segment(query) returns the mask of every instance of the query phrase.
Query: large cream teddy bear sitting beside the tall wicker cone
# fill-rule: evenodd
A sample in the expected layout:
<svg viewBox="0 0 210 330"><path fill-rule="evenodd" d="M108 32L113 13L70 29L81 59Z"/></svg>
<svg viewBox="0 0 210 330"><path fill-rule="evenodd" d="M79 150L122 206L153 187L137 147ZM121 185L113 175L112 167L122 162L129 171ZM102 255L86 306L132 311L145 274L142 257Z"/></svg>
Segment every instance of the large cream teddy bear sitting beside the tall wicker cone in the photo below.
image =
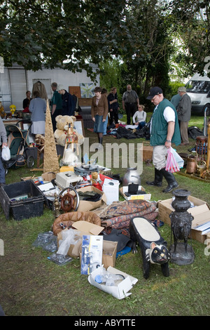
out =
<svg viewBox="0 0 210 330"><path fill-rule="evenodd" d="M63 147L65 147L66 134L68 133L69 124L71 124L71 126L73 127L74 121L76 121L76 117L59 115L55 118L55 121L57 121L57 124L56 124L57 129L55 130L55 133L54 133L56 142L59 145L62 145ZM78 134L78 132L76 131L75 128L73 128L73 132L75 132L76 135L78 136L78 145L82 145L84 142L83 135Z"/></svg>

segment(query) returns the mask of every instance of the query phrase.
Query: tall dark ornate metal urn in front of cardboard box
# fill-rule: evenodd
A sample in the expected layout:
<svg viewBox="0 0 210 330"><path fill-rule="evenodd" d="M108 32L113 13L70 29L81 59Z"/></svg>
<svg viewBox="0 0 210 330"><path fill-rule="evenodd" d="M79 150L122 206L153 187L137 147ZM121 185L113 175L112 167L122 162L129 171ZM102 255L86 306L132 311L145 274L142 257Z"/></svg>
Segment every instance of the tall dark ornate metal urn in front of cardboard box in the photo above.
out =
<svg viewBox="0 0 210 330"><path fill-rule="evenodd" d="M171 219L174 244L170 247L171 262L177 265L190 265L195 260L193 247L188 244L190 237L193 216L188 212L190 192L184 189L177 189L173 192L175 199L172 207L175 209L169 217ZM182 240L183 242L179 242Z"/></svg>

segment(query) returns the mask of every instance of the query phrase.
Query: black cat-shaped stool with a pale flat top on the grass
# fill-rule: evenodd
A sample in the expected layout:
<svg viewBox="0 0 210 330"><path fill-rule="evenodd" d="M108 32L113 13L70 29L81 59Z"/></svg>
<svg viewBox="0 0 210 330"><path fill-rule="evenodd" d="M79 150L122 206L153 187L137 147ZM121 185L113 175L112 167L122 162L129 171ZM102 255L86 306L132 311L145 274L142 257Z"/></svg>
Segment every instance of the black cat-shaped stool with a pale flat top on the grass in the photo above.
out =
<svg viewBox="0 0 210 330"><path fill-rule="evenodd" d="M149 277L151 263L160 265L162 274L168 277L170 254L167 242L160 236L153 223L146 218L132 218L130 220L130 238L133 241L133 253L137 253L136 243L141 248L144 278Z"/></svg>

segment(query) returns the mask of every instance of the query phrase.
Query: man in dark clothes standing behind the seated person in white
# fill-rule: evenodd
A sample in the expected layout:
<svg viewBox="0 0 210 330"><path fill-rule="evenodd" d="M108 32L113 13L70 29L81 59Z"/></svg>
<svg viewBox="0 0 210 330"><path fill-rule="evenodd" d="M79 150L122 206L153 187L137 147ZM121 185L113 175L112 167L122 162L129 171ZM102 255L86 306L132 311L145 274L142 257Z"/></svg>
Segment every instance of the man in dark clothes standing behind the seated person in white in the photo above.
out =
<svg viewBox="0 0 210 330"><path fill-rule="evenodd" d="M127 91L123 93L123 110L127 114L127 125L130 125L130 118L134 116L134 113L139 107L139 96L135 91L132 91L132 86L127 85Z"/></svg>

